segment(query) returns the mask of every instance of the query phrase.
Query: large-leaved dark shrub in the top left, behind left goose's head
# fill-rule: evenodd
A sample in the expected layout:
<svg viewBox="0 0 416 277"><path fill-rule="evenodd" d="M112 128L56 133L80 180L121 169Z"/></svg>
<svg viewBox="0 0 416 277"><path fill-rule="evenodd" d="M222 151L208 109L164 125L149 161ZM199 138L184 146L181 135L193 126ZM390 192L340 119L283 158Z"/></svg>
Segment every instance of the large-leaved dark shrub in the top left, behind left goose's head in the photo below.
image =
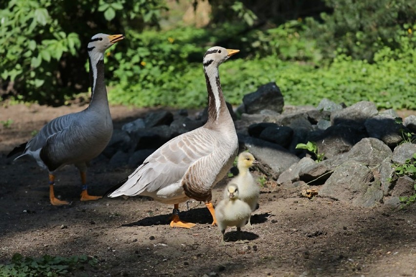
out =
<svg viewBox="0 0 416 277"><path fill-rule="evenodd" d="M81 45L98 32L121 33L122 25L156 25L161 2L1 0L0 44L7 45L0 49L3 94L54 103L69 92L85 91Z"/></svg>

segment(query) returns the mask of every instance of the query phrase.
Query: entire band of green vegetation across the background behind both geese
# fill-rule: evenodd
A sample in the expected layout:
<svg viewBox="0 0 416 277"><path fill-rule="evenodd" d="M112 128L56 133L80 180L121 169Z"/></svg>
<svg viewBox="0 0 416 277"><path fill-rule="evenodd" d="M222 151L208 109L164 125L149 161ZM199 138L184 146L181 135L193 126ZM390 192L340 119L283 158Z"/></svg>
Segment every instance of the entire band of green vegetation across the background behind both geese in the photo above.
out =
<svg viewBox="0 0 416 277"><path fill-rule="evenodd" d="M79 98L89 87L87 42L102 32L126 36L107 52L114 104L205 105L200 63L220 45L241 50L222 66L232 104L276 81L291 104L326 97L415 109L415 7L416 0L0 0L0 95L48 105Z"/></svg>

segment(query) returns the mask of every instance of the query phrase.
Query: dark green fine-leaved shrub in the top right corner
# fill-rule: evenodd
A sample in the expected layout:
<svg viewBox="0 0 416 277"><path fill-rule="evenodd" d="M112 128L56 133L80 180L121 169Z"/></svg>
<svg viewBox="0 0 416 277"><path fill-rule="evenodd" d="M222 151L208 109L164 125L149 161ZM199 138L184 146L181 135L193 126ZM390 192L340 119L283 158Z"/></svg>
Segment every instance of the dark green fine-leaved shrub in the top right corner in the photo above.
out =
<svg viewBox="0 0 416 277"><path fill-rule="evenodd" d="M396 34L403 24L416 20L415 0L325 0L333 9L321 20L308 19L310 38L316 40L325 58L343 53L353 59L373 61L382 46L399 47Z"/></svg>

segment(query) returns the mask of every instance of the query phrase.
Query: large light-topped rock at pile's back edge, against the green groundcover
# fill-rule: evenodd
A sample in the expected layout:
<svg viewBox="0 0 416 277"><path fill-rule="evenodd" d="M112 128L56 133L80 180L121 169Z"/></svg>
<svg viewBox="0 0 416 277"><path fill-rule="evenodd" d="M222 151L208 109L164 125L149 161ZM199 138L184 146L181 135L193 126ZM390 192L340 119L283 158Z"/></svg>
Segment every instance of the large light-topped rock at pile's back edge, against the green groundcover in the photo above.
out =
<svg viewBox="0 0 416 277"><path fill-rule="evenodd" d="M364 124L366 119L378 114L373 102L361 101L342 110L333 111L331 123L333 125Z"/></svg>

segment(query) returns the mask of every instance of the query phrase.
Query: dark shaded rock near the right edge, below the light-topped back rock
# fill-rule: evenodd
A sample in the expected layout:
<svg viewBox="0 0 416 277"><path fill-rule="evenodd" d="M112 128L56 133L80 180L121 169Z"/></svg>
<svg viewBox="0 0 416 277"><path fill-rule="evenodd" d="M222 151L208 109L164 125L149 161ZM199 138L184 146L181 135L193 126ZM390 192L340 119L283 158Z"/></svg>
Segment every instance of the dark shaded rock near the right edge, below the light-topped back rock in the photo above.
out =
<svg viewBox="0 0 416 277"><path fill-rule="evenodd" d="M394 147L403 140L400 130L404 126L396 123L392 116L378 115L366 119L364 125L370 137L382 140L389 147Z"/></svg>

